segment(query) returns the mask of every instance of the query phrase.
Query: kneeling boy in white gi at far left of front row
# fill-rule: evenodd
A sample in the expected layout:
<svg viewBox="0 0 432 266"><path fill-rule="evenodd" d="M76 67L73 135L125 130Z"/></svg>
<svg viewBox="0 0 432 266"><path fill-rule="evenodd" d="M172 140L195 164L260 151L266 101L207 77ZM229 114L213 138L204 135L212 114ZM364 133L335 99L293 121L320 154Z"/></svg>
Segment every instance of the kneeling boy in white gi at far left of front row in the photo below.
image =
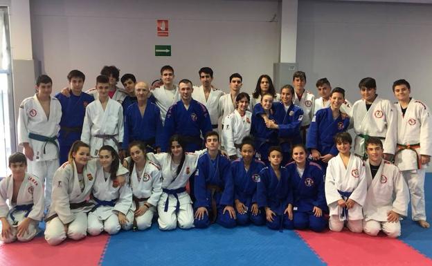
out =
<svg viewBox="0 0 432 266"><path fill-rule="evenodd" d="M23 153L10 155L9 168L12 175L0 182L0 240L30 241L40 231L37 225L44 215L44 187L39 178L26 173Z"/></svg>

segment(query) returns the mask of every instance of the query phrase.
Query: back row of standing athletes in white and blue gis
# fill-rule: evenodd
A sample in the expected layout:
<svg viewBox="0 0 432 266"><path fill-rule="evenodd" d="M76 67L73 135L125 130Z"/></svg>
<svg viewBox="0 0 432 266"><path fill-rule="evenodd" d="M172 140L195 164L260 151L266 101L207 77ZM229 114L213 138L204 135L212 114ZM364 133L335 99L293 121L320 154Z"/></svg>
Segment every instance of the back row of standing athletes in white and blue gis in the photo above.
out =
<svg viewBox="0 0 432 266"><path fill-rule="evenodd" d="M262 75L258 79L253 97L249 97L246 93L240 93L242 77L238 74L230 77L231 93L223 95L221 91L211 86L213 71L210 68L201 68L199 71L203 84L201 87L194 88L192 82L183 79L177 88L172 84L174 71L170 66L164 66L161 70L164 84L152 91L156 104L150 102L147 104L149 96L147 84L143 82L135 84L137 102L126 108L125 132L129 131L129 133L127 137L122 137L123 109L118 102L111 100L111 97L114 99L120 97L118 96L120 90L115 85L118 69L112 66L105 67L102 69L102 74L109 75L101 75L97 78L96 88L91 91L98 100L90 104L91 97L82 93L84 75L78 70L73 70L68 76L71 88L64 89L62 94L56 95L60 99L61 106L57 98L50 96L52 82L46 75L42 75L37 80L36 95L25 99L20 106L19 143L24 146L24 153L29 159L29 172L41 177L42 180L46 179L45 206L47 208L51 200L50 173L58 167L56 139L59 122L60 155L69 151L71 143L79 139L90 144L91 155L95 157L99 155L102 145L111 145L116 151L120 150L122 153L121 147L124 143L134 140L144 141L147 150L165 151L167 147L163 144L170 145L168 139L174 134L180 135L185 141L185 151L197 151L202 147L200 135L206 135L212 127L217 127L216 124L212 123L212 126L209 123L213 121L212 117L216 117L216 122L218 118L217 115L212 116L210 111L221 113L221 110L225 111L229 107L234 111L223 120L222 142L226 142L226 145L224 144L226 147L230 143L234 147L231 154L230 149L227 149L230 157L234 157L233 159L235 156L240 157L239 145L244 135L252 133L255 137L254 150L256 149L262 161L268 162L270 146L280 145L282 158L286 162L290 158L291 147L302 142L299 137L300 132L305 136L305 129L310 125L307 137L304 137L303 141L306 140L307 151L311 153L313 160L321 164L324 173L327 162L338 154L333 142L334 135L346 131L350 121L356 121L354 131L357 136L354 142L354 153L365 155L364 140L372 136L381 137L384 140L384 158L390 159L395 155L395 162L403 171L408 183L411 191L413 220L419 221L422 227L429 227L424 211L424 167L422 167L429 162L431 154L429 109L422 102L410 97L411 88L403 79L393 85L393 91L398 99L395 106L388 100L377 97L375 79L372 78L361 80L359 88L363 99L350 106L348 101L345 101L343 89L334 88L330 94L331 88L327 79L318 80L318 91L322 93L322 97L314 101L312 93L304 89L306 77L301 71L294 74L293 83L296 88L289 85L283 86L280 96L273 88L270 77ZM122 82L125 88L129 85L131 91L130 86L135 82L134 76L123 75ZM196 91L198 91L197 99L201 95L204 97L201 100L206 104L210 99L213 99L215 104L209 104L207 109L204 104L196 102L194 97ZM218 99L215 99L215 94L219 95ZM180 100L176 102L175 97L179 97ZM280 97L280 102L273 102L274 97ZM254 102L256 99L259 99L259 103L253 106L252 115L248 111L248 106L249 102ZM123 104L133 101L132 93L123 97ZM168 108L168 104L172 102L174 104ZM299 106L293 102L298 102ZM316 104L312 104L313 102ZM163 111L157 106L163 103L165 103L165 110L168 111L165 115L164 130L158 131L158 128L161 128L158 119L161 117L163 120ZM329 105L330 107L317 111L312 118L314 106L319 106L320 103L324 107ZM345 112L341 111L343 108ZM161 115L154 115L159 110ZM50 111L51 115L49 115ZM307 121L305 117L309 117L308 124L304 124ZM160 142L157 140L159 137L162 138ZM123 145L120 142L122 139ZM175 201L178 198L177 193L168 194L173 196Z"/></svg>

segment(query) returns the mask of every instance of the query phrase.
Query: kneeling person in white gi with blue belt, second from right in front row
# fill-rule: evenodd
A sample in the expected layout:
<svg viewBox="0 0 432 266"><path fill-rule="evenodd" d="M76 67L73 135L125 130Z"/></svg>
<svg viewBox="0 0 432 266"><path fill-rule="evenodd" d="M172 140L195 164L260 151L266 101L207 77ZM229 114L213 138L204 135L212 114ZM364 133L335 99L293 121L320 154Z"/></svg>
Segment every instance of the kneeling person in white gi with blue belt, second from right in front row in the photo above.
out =
<svg viewBox="0 0 432 266"><path fill-rule="evenodd" d="M363 231L362 207L366 200L365 165L361 158L350 153L349 133L334 137L339 154L330 159L325 175L325 198L330 209L329 227L341 231L345 221L350 231Z"/></svg>

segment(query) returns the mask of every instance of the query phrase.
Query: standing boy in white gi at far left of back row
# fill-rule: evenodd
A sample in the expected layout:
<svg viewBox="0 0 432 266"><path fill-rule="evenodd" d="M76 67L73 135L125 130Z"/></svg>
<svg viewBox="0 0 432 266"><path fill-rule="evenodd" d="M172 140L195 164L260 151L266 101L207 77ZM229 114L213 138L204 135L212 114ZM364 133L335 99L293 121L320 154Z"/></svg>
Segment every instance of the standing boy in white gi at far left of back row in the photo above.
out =
<svg viewBox="0 0 432 266"><path fill-rule="evenodd" d="M45 184L45 207L51 204L53 175L59 167L57 135L62 119L62 106L51 96L53 81L47 75L37 78L37 93L21 102L18 116L19 145L24 146L28 173Z"/></svg>

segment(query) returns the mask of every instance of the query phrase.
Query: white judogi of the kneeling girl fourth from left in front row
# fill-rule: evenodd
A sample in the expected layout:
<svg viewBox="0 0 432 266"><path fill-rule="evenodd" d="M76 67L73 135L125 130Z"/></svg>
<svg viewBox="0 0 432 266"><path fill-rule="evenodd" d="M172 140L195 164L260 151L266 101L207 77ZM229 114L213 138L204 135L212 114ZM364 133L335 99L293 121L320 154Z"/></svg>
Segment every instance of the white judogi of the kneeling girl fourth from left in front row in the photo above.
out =
<svg viewBox="0 0 432 266"><path fill-rule="evenodd" d="M145 230L152 226L152 219L154 213L156 213L156 206L158 205L159 198L162 194L162 174L161 169L147 160L145 162L145 167L141 175L137 175L136 164L134 164L134 169L130 175L130 187L132 188L132 193L138 200L138 207L144 205L148 202L152 205L150 209L147 209L145 213L141 216L136 216L136 227L138 230ZM147 199L147 200L144 200ZM134 211L138 209L135 200L132 202L132 208L129 213L132 213L132 219L134 218ZM129 219L129 218L128 218Z"/></svg>

